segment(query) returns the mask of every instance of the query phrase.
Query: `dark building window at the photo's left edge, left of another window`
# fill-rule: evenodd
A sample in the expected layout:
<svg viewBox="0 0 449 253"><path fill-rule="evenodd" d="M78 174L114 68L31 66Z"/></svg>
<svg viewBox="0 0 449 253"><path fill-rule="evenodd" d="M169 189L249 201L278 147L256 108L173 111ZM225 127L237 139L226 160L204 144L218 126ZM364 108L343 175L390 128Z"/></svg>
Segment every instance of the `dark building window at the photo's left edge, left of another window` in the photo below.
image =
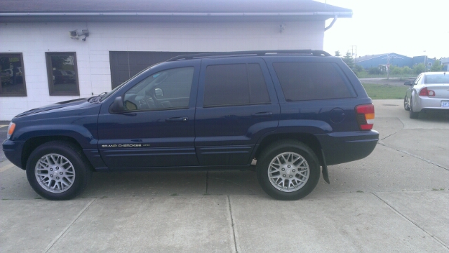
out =
<svg viewBox="0 0 449 253"><path fill-rule="evenodd" d="M27 96L21 53L0 53L0 81L0 96Z"/></svg>

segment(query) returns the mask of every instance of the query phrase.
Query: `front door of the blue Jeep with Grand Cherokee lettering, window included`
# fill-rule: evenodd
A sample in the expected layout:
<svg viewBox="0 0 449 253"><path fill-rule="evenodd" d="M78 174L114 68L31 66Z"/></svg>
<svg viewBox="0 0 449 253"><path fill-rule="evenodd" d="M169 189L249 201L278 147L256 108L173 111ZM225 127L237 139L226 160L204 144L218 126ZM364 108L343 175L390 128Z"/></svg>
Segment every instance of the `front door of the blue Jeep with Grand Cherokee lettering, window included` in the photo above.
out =
<svg viewBox="0 0 449 253"><path fill-rule="evenodd" d="M123 114L110 114L111 102L102 105L98 149L112 170L199 164L194 149L199 61L170 66L145 71L145 78L111 97L121 95Z"/></svg>

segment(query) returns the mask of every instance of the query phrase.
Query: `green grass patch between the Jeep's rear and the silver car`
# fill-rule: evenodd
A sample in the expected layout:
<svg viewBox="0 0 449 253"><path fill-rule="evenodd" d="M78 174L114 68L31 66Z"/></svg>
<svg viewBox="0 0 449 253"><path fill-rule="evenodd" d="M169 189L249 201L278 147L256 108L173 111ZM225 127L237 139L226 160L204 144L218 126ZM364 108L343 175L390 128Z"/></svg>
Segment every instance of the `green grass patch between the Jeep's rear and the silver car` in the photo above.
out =
<svg viewBox="0 0 449 253"><path fill-rule="evenodd" d="M363 87L373 100L401 100L406 95L408 86L365 83Z"/></svg>

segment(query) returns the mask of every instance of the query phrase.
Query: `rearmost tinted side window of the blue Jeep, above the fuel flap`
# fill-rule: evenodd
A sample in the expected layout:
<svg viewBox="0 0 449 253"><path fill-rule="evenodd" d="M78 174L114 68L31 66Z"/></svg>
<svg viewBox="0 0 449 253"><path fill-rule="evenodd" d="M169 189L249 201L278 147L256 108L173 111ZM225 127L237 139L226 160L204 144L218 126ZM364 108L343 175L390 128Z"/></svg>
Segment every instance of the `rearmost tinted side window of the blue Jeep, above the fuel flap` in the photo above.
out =
<svg viewBox="0 0 449 253"><path fill-rule="evenodd" d="M354 97L352 88L330 62L275 62L286 101Z"/></svg>

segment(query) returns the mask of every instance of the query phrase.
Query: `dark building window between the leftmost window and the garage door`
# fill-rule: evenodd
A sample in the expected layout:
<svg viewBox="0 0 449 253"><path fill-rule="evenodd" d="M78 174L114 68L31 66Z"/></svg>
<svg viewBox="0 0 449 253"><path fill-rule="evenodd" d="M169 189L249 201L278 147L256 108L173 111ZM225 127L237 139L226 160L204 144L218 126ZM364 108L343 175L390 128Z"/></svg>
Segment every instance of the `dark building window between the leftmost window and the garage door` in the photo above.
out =
<svg viewBox="0 0 449 253"><path fill-rule="evenodd" d="M76 54L46 53L46 62L50 95L79 95Z"/></svg>

